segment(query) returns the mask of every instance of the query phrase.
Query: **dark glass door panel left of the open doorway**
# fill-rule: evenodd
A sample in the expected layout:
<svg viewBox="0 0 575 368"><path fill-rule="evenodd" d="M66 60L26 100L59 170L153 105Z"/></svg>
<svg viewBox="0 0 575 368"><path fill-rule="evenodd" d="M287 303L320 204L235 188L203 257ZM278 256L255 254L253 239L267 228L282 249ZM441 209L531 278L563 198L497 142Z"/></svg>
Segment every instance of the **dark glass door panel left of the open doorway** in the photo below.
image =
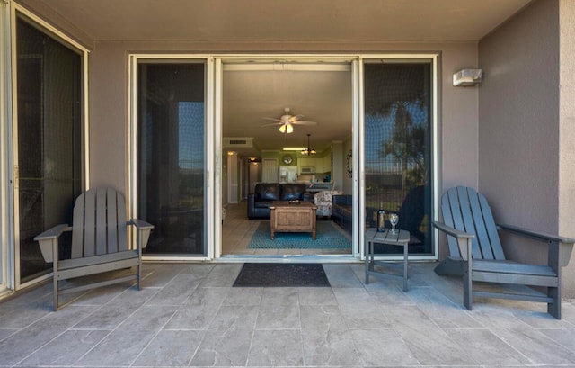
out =
<svg viewBox="0 0 575 368"><path fill-rule="evenodd" d="M137 217L145 256L206 256L206 64L137 62Z"/></svg>

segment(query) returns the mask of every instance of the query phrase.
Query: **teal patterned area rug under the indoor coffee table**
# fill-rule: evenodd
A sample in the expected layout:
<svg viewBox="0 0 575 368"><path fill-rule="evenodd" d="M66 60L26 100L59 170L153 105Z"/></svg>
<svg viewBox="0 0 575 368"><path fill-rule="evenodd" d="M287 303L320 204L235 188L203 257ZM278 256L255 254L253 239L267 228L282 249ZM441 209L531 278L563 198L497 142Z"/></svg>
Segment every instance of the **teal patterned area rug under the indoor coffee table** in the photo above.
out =
<svg viewBox="0 0 575 368"><path fill-rule="evenodd" d="M351 249L351 240L331 221L317 221L315 240L309 232L277 232L270 239L270 222L261 221L248 249Z"/></svg>

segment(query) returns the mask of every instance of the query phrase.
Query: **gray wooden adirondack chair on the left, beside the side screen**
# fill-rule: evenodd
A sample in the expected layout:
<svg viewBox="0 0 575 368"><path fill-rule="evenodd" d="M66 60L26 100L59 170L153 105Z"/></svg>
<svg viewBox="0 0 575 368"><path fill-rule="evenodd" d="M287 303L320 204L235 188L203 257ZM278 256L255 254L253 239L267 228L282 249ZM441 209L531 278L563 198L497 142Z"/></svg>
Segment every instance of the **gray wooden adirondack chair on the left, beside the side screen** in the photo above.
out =
<svg viewBox="0 0 575 368"><path fill-rule="evenodd" d="M137 280L140 290L142 249L153 225L143 220L126 220L126 200L122 193L111 188L94 188L80 195L74 206L74 223L57 225L36 238L46 262L54 263L54 310L58 310L58 295L81 292L92 288ZM136 231L136 247L128 247L128 225ZM59 260L58 239L65 231L72 231L71 258ZM90 274L137 267L132 274L100 282L83 283L60 288L59 283Z"/></svg>

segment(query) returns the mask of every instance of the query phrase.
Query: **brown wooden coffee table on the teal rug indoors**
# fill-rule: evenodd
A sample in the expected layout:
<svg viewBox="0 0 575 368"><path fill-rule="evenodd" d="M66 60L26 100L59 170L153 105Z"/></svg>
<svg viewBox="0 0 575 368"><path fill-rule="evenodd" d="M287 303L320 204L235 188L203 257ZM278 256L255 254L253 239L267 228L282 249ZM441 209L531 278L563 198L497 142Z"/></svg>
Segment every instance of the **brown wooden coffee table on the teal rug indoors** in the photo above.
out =
<svg viewBox="0 0 575 368"><path fill-rule="evenodd" d="M311 232L315 240L315 211L312 202L274 201L270 207L270 238L276 232Z"/></svg>

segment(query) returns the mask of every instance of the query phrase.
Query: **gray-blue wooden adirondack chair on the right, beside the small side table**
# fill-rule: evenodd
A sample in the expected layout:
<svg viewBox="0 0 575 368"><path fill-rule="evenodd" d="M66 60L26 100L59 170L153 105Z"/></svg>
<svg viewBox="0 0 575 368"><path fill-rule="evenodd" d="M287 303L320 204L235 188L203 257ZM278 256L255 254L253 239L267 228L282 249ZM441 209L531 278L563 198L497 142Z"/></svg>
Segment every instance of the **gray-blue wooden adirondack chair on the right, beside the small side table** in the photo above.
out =
<svg viewBox="0 0 575 368"><path fill-rule="evenodd" d="M464 306L468 310L472 310L473 296L541 301L547 303L547 311L553 317L561 319L561 268L569 262L574 239L496 225L487 200L473 188L457 186L449 189L442 197L441 211L444 223L434 221L433 225L447 234L449 256L436 267L435 272L463 275ZM526 265L506 259L498 230L508 230L546 243L547 265ZM487 292L474 289L473 282L529 287L525 287L526 292L519 293ZM530 286L544 287L547 292L536 292Z"/></svg>

